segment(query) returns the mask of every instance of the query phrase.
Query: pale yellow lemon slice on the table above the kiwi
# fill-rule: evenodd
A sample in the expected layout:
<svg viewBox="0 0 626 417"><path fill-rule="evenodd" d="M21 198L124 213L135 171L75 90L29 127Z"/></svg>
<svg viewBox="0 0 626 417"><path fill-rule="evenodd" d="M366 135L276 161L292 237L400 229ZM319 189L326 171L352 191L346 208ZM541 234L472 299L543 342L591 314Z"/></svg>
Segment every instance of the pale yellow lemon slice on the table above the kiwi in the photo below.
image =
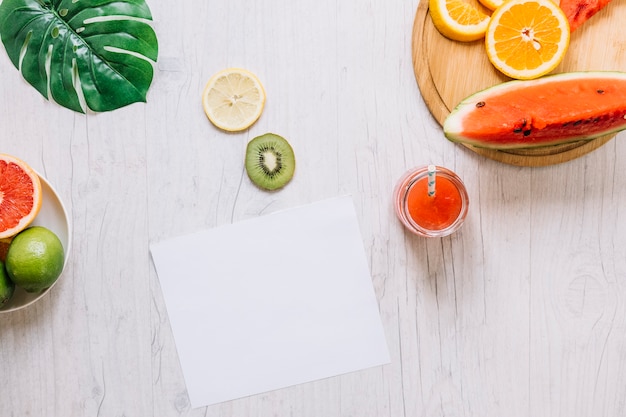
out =
<svg viewBox="0 0 626 417"><path fill-rule="evenodd" d="M245 130L265 106L265 89L248 70L227 68L213 75L202 93L202 107L215 126L229 132Z"/></svg>

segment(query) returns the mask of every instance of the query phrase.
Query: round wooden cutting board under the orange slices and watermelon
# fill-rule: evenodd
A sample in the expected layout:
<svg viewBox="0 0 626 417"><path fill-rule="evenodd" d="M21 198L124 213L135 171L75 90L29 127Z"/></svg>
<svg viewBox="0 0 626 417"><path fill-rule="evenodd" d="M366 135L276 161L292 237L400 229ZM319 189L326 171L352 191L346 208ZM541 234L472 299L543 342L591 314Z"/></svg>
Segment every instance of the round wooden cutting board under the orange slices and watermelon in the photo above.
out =
<svg viewBox="0 0 626 417"><path fill-rule="evenodd" d="M470 1L477 7L482 7L477 0ZM613 0L572 33L567 54L552 73L626 71L624 22L626 1ZM491 65L483 40L465 43L442 36L428 13L428 0L420 0L417 7L412 52L417 84L430 112L441 125L450 111L465 97L510 80ZM585 155L614 136L523 150L495 151L469 145L467 147L487 158L511 165L545 166Z"/></svg>

